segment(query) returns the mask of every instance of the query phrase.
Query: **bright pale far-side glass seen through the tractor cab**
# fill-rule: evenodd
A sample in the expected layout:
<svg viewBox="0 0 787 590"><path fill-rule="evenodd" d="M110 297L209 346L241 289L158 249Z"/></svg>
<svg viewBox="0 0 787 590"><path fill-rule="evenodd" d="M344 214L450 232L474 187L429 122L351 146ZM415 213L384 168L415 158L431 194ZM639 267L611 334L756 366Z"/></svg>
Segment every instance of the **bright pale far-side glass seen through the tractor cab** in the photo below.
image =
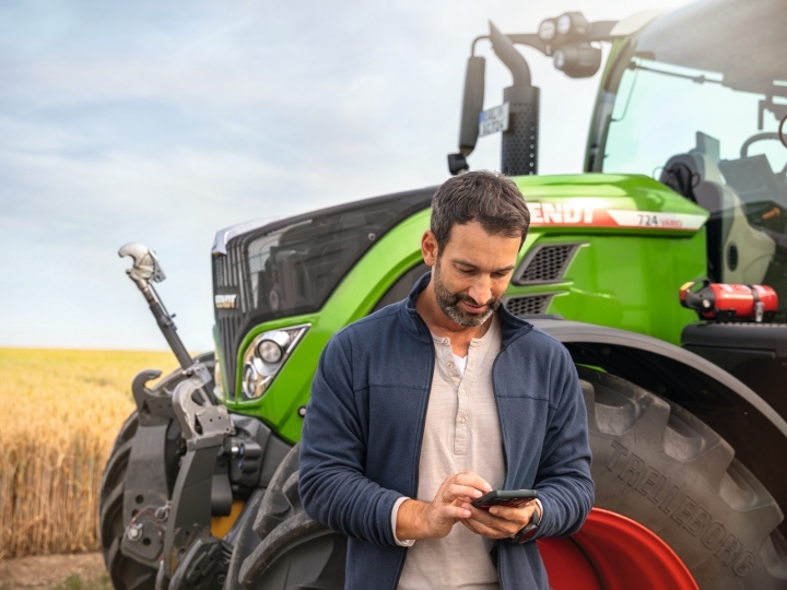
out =
<svg viewBox="0 0 787 590"><path fill-rule="evenodd" d="M772 173L779 173L787 149L776 137L779 121L773 110L761 110L766 97L721 81L717 72L633 57L612 109L603 170L658 178L670 157L694 149L716 162L763 154ZM787 95L787 83L774 88ZM782 97L772 98L774 110L787 115L787 101L779 108ZM771 137L747 145L764 133Z"/></svg>

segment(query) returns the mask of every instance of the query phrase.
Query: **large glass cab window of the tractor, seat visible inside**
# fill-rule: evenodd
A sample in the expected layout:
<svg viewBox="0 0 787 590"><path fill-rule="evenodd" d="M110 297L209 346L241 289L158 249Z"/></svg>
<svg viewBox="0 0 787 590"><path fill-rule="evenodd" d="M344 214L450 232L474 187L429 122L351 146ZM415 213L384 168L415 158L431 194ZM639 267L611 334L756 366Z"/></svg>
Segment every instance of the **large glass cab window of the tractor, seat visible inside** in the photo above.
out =
<svg viewBox="0 0 787 590"><path fill-rule="evenodd" d="M783 23L780 0L706 0L647 25L607 75L588 153L589 170L651 176L707 209L710 278L774 286L782 320L787 307L787 146L778 133L787 118Z"/></svg>

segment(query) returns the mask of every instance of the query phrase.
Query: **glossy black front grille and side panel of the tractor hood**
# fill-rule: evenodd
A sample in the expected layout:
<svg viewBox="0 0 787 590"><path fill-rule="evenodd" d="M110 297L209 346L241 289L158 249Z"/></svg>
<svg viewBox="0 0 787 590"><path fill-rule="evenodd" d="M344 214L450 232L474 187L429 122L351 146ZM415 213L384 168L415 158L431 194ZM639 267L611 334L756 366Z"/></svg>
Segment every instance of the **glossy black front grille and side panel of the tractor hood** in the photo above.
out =
<svg viewBox="0 0 787 590"><path fill-rule="evenodd" d="M434 190L366 199L245 231L238 226L232 238L223 237L226 253L213 256L213 295L224 394L235 397L238 349L251 328L318 311L369 248L430 205Z"/></svg>

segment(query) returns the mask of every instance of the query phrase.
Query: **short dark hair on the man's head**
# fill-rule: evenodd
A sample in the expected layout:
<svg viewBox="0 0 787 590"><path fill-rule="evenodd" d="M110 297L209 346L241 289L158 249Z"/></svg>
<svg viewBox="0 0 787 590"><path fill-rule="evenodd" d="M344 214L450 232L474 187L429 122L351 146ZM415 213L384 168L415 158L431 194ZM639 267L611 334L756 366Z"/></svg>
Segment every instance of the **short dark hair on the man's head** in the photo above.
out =
<svg viewBox="0 0 787 590"><path fill-rule="evenodd" d="M491 235L521 237L525 243L530 212L517 186L502 174L466 173L446 180L432 197L431 229L439 250L451 227L478 221Z"/></svg>

